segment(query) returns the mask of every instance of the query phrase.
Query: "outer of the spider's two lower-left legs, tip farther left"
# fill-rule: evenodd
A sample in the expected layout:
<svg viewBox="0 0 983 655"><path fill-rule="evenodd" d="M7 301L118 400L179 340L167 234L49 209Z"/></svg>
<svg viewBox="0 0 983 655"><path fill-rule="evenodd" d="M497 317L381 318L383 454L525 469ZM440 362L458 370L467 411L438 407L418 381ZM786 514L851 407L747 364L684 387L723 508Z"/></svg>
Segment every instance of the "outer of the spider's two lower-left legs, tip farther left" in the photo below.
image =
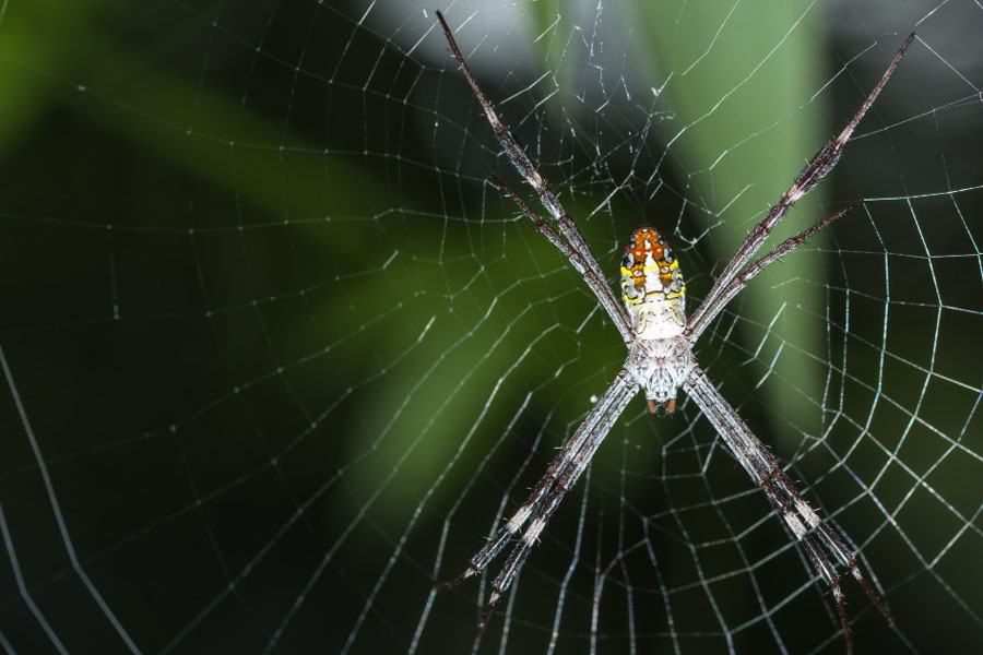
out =
<svg viewBox="0 0 983 655"><path fill-rule="evenodd" d="M492 540L471 558L471 562L463 573L453 580L438 584L437 588L446 590L458 586L475 573L484 571L488 563L505 549L508 540L522 528L532 515L533 509L546 498L546 495L553 489L557 480L560 479L569 467L578 461L577 457L584 443L590 441L593 434L596 433L597 426L602 425L603 427L606 425L607 427L604 428L604 433L606 434L607 431L611 430L611 425L605 424L604 421L614 422L624 409L624 405L619 405L619 403L623 401L627 403L624 396L627 395L628 400L630 400L637 392L638 388L628 374L628 371L625 369L619 371L588 413L587 418L583 419L583 422L580 424L573 432L573 436L567 441L567 444L559 453L557 453L556 457L553 458L553 462L549 463L549 466L546 468L546 474L543 475L543 477L540 478L540 481L536 483L536 486L533 487L532 492L529 495L529 498L525 499L525 502L522 503L522 507L520 507L516 513L512 514L512 517L495 533Z"/></svg>

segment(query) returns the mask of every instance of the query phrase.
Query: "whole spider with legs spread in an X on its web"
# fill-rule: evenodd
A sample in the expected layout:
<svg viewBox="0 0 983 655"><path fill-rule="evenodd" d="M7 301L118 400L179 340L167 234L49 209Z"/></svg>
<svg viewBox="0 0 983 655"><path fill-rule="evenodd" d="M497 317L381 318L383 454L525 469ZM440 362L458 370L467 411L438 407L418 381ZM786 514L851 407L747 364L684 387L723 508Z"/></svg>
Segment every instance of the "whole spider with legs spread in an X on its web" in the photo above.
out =
<svg viewBox="0 0 983 655"><path fill-rule="evenodd" d="M485 117L492 124L505 154L525 181L532 184L540 196L540 202L553 217L556 228L536 215L500 178L492 175L492 179L580 273L620 332L628 348L625 366L588 413L587 418L577 428L573 436L550 462L545 475L533 487L525 502L498 529L488 544L471 558L471 562L463 573L451 581L440 583L438 588L457 586L472 575L484 572L492 560L506 548L508 541L523 526L526 526L492 584L492 594L477 627L476 635L479 635L487 624L495 604L519 574L519 570L549 517L556 512L567 491L577 484L628 403L639 391L643 391L650 412L655 413L659 408L664 408L666 414L672 414L676 406L676 392L683 389L702 410L730 449L731 454L747 472L755 485L765 492L778 516L785 522L797 543L808 553L808 559L819 577L832 591L843 624L846 652L853 652L853 636L846 618L843 591L840 587L840 569L848 570L857 580L880 614L893 624L891 614L867 584L853 553L843 544L843 539L800 496L795 485L771 451L755 437L737 412L707 379L694 359L692 345L710 322L753 277L775 260L801 246L810 236L861 204L854 202L805 231L790 237L765 257L748 263L765 243L771 230L785 217L792 205L819 183L837 165L843 147L850 141L857 123L877 99L915 35L911 34L901 45L887 71L881 75L874 91L861 105L853 119L836 139L822 146L798 174L792 187L785 191L778 204L771 207L765 219L755 226L737 252L734 253L733 259L724 266L703 302L687 319L686 286L679 271L679 263L665 237L658 229L648 225L638 227L628 239L621 259L621 300L624 305L617 302L583 235L546 186L546 181L519 142L499 120L492 104L478 87L474 75L464 62L453 33L439 11L437 19L440 21L454 59L458 60L467 83L481 103Z"/></svg>

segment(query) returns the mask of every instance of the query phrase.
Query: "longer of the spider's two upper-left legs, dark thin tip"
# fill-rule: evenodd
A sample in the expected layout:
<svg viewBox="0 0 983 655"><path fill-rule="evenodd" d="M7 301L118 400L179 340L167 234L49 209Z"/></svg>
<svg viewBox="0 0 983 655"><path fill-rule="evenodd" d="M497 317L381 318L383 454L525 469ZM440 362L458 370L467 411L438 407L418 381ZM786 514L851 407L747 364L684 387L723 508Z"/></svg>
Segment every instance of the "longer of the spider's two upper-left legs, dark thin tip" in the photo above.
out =
<svg viewBox="0 0 983 655"><path fill-rule="evenodd" d="M543 176L540 175L540 171L536 170L536 167L529 158L529 155L525 154L525 151L522 150L522 146L519 145L519 142L512 135L512 132L498 118L498 115L492 107L492 103L488 100L488 98L485 97L484 92L482 92L481 87L477 84L477 81L471 73L471 69L467 68L467 64L464 62L464 57L461 55L461 49L458 48L458 43L454 40L454 35L448 26L447 21L443 19L443 14L439 11L437 11L436 13L437 19L440 21L440 26L443 28L443 35L447 37L447 43L450 44L451 51L454 53L454 59L458 60L458 64L460 64L461 70L464 72L464 78L467 79L467 83L471 85L471 90L474 92L475 97L477 98L478 103L481 103L482 108L485 110L485 118L487 118L488 122L492 124L492 130L495 132L495 136L501 144L501 147L505 151L506 155L509 157L509 160L512 163L512 166L514 166L519 174L522 175L523 178L525 178L525 181L532 184L533 189L535 189L536 194L540 196L540 202L544 207L546 207L546 211L550 216L553 216L554 221L556 221L556 224L559 227L559 231L567 239L569 247L575 252L580 254L580 259L582 261L584 270L589 271L597 281L603 282L605 279L604 274L601 271L600 264L597 264L597 260L591 252L591 248L590 246L588 246L587 239L583 238L583 235L577 227L577 224L573 223L573 219L564 210L559 200L556 198L553 191L549 190L549 187L546 186L546 180L544 180ZM511 191L508 191L508 193L512 196L513 200L517 198ZM521 204L520 206L522 207ZM526 214L531 215L526 207L522 209L526 212ZM536 222L536 218L533 218L533 222ZM536 227L538 226L540 224L536 223ZM543 229L540 228L540 231L543 231ZM546 235L545 231L543 234ZM548 235L546 236L547 238L549 238ZM553 239L549 240L554 246L559 248L560 251L564 252L564 254L567 254L567 250L560 247L557 241L554 241ZM577 264L575 263L575 265ZM584 276L584 278L587 279L587 276ZM628 343L630 341L629 335L631 335L628 315L618 302L618 299L612 293L611 287L608 287L606 283L591 284L591 282L588 281L588 284L591 286L591 290L593 290L597 296L601 305L604 306L604 308L611 314L611 318L612 320L614 320L615 325L618 326L618 330L621 333L621 337L626 343Z"/></svg>

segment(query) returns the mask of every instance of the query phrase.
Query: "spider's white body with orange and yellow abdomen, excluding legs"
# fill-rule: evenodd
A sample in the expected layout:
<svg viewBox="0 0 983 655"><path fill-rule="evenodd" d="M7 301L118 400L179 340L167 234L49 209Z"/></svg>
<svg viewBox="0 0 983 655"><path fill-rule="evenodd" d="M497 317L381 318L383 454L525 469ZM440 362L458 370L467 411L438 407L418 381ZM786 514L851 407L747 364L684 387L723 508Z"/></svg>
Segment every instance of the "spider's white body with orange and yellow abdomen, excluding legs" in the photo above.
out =
<svg viewBox="0 0 983 655"><path fill-rule="evenodd" d="M676 390L694 360L686 329L686 285L679 260L654 227L631 233L621 258L621 300L635 329L627 368L646 392L649 410L676 408Z"/></svg>

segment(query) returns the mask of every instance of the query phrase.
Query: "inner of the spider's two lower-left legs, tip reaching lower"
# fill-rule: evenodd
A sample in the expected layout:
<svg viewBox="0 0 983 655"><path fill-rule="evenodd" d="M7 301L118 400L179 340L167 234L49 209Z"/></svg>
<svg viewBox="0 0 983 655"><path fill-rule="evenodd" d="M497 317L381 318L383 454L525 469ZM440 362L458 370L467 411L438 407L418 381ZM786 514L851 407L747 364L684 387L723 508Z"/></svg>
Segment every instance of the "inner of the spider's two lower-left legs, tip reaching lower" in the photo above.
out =
<svg viewBox="0 0 983 655"><path fill-rule="evenodd" d="M618 420L618 417L621 416L621 412L625 410L625 407L628 406L628 403L638 392L638 388L633 382L628 381L628 379L627 371L623 370L618 373L616 381L624 381L624 383L618 384L615 389L615 392L612 394L612 403L607 405L604 413L599 417L599 420L595 422L594 429L585 440L583 448L573 455L572 462L565 468L562 475L556 478L556 485L549 493L549 497L543 502L536 517L529 524L529 527L522 535L522 539L512 549L509 559L506 560L506 563L502 565L501 571L498 572L495 582L492 583L492 595L488 597L488 603L485 605L485 611L482 615L482 622L478 624L477 634L481 634L482 631L484 631L488 617L495 608L495 604L498 602L501 594L508 591L512 581L516 580L519 570L522 569L522 564L525 563L525 559L529 557L533 546L538 541L543 528L546 527L546 523L553 516L554 512L556 512L564 496L566 496L567 491L569 491L577 484L577 480L580 479L580 476L587 469L591 460L594 458L594 453L597 452L601 443L604 441L605 437L607 437L608 432L611 432L611 429ZM614 384L612 386L614 386Z"/></svg>

